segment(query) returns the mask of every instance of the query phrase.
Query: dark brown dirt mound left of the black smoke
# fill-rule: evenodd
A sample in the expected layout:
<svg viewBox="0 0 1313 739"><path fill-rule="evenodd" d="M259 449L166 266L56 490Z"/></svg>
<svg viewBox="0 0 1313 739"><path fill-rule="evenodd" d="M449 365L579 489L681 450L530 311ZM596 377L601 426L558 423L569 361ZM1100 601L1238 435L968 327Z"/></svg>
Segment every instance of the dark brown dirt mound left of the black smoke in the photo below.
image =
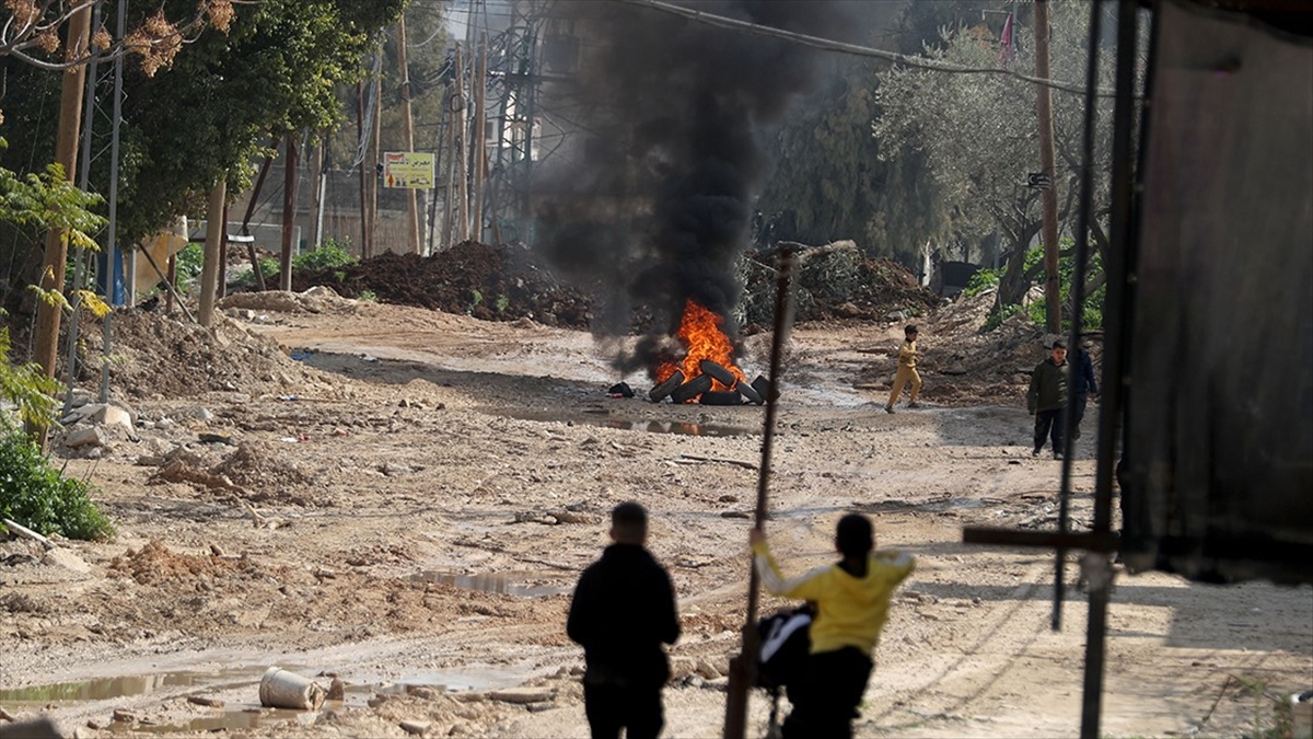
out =
<svg viewBox="0 0 1313 739"><path fill-rule="evenodd" d="M465 313L487 321L533 318L549 326L587 329L588 298L563 285L521 246L462 242L432 256L382 254L293 275L293 289L330 287L345 297Z"/></svg>

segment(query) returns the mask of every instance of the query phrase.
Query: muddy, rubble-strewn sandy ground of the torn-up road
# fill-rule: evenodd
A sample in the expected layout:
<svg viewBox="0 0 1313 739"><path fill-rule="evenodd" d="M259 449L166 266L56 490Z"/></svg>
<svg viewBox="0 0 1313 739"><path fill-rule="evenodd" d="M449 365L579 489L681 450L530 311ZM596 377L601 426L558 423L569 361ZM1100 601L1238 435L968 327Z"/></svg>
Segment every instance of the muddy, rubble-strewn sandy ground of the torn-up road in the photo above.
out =
<svg viewBox="0 0 1313 739"><path fill-rule="evenodd" d="M632 498L683 618L666 735L721 735L763 408L647 402L650 381L617 376L608 347L529 320L264 300L230 304L213 342L119 320L135 441L56 447L119 531L54 554L0 542L0 732L46 715L70 736L586 736L569 593ZM789 338L768 523L786 568L829 560L847 510L918 558L857 736L1079 730L1078 565L1053 631L1052 552L961 543L969 525L1054 527L1061 475L1031 458L1019 402L1037 342L989 354L969 323L927 320L924 408L894 416L898 325ZM750 376L768 342L748 339ZM639 397L608 397L621 380ZM1091 518L1090 437L1075 527ZM1119 568L1107 664L1106 736L1279 735L1271 698L1313 688L1313 590ZM270 665L336 677L344 700L261 710ZM755 693L750 735L768 707Z"/></svg>

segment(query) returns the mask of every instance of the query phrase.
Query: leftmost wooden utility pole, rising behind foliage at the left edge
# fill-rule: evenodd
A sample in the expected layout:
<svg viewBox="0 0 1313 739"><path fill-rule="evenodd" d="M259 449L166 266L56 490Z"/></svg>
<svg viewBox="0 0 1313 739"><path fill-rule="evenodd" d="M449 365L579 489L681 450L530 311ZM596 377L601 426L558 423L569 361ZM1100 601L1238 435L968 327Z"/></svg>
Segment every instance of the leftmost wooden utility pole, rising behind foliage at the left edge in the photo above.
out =
<svg viewBox="0 0 1313 739"><path fill-rule="evenodd" d="M91 9L93 3L88 1L72 12L68 18L68 42L64 53L66 60L79 59L87 55L91 42ZM81 131L81 103L83 89L87 84L87 66L77 64L64 70L63 92L59 99L59 131L55 138L55 162L64 168L68 181L74 179L74 168L77 164L77 134ZM64 263L68 259L68 234L62 229L51 229L46 234L46 255L41 267L41 279L37 284L41 289L63 292L64 289ZM113 267L112 267L113 268ZM113 281L110 281L113 285ZM58 305L46 301L37 304L37 339L34 359L45 371L47 377L55 376L55 362L59 354L59 310ZM74 318L76 320L76 317ZM28 433L45 448L45 427L29 427Z"/></svg>

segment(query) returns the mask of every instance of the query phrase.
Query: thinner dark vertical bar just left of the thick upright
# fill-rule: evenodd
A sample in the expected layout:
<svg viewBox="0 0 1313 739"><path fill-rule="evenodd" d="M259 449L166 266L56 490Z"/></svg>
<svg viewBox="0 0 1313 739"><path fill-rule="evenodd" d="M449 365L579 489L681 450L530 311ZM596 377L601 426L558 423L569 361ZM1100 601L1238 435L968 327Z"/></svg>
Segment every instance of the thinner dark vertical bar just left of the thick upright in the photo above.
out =
<svg viewBox="0 0 1313 739"><path fill-rule="evenodd" d="M1073 352L1079 348L1082 329L1082 306L1085 304L1085 274L1090 259L1090 203L1094 200L1094 126L1096 121L1099 87L1099 26L1103 13L1103 0L1094 0L1090 4L1090 30L1088 51L1086 54L1085 75L1085 135L1081 142L1081 206L1075 218L1075 271L1071 279L1071 338L1067 346ZM1071 356L1075 356L1073 354ZM1079 367L1067 367L1067 408L1062 419L1062 487L1058 492L1058 533L1067 533L1067 510L1071 498L1071 431L1075 429L1075 393L1070 392L1071 372L1079 372ZM1078 383L1081 380L1077 380ZM1056 569L1053 572L1053 618L1052 629L1062 629L1062 590L1065 588L1064 575L1066 569L1066 550L1057 550Z"/></svg>

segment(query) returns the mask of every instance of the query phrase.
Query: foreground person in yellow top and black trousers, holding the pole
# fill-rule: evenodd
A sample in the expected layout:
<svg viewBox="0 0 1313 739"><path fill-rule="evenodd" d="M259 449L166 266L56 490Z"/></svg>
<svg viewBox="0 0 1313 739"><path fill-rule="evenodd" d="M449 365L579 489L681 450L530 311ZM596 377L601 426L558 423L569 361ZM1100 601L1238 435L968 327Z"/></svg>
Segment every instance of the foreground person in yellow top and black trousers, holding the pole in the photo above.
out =
<svg viewBox="0 0 1313 739"><path fill-rule="evenodd" d="M852 719L874 667L872 656L889 617L894 589L911 575L915 560L895 550L876 552L871 519L850 513L839 519L834 543L838 563L786 580L771 555L765 533L748 534L752 560L767 592L815 604L811 648L785 739L851 739ZM793 694L790 693L790 700Z"/></svg>

